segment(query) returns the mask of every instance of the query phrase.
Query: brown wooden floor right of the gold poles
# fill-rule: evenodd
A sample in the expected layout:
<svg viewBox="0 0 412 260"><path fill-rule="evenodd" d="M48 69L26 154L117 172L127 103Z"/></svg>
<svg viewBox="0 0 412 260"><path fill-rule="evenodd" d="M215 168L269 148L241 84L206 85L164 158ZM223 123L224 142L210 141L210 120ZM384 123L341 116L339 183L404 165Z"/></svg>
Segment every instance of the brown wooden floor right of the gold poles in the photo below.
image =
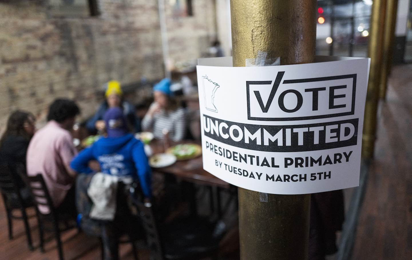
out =
<svg viewBox="0 0 412 260"><path fill-rule="evenodd" d="M412 64L393 68L377 129L352 259L412 259Z"/></svg>

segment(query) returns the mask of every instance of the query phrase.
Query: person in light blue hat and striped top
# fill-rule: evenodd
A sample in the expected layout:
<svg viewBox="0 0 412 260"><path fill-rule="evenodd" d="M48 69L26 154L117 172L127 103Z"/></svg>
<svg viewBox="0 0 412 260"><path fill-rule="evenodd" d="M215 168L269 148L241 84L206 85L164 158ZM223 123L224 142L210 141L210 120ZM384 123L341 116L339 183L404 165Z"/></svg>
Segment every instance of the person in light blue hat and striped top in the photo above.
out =
<svg viewBox="0 0 412 260"><path fill-rule="evenodd" d="M170 90L170 80L162 79L153 87L155 102L142 120L143 130L152 130L155 138L163 139L168 132L173 142L179 142L185 137L185 110L173 99Z"/></svg>

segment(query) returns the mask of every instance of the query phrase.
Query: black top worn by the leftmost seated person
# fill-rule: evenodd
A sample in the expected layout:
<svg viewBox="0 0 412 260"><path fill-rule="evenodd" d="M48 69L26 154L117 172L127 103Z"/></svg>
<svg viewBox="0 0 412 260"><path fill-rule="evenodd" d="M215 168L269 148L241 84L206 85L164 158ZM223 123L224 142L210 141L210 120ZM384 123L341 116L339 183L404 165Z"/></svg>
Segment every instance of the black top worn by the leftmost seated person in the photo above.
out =
<svg viewBox="0 0 412 260"><path fill-rule="evenodd" d="M4 174L4 170L16 177L19 188L25 187L25 183L21 179L21 175L26 175L26 153L29 139L22 136L7 136L0 147L0 165L7 167L2 169L0 174Z"/></svg>

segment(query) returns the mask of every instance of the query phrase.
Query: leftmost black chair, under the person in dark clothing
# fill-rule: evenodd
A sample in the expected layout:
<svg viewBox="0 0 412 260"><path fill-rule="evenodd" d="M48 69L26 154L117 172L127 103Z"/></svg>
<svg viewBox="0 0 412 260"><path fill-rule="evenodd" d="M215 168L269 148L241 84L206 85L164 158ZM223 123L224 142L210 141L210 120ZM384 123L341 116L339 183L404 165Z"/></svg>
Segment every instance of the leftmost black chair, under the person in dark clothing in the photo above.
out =
<svg viewBox="0 0 412 260"><path fill-rule="evenodd" d="M16 177L10 173L9 168L5 165L2 165L1 167L0 190L7 213L9 239L13 239L13 219L23 220L24 228L26 229L28 248L30 251L33 251L26 208L34 207L35 205L31 197L25 198L22 196ZM21 216L14 215L13 211L15 210L19 210Z"/></svg>

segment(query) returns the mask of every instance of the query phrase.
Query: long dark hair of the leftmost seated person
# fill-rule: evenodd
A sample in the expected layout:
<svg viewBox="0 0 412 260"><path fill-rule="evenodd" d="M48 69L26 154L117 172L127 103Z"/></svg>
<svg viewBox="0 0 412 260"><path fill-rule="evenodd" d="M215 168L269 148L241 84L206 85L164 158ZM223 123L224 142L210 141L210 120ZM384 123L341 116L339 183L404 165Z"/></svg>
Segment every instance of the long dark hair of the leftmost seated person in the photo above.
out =
<svg viewBox="0 0 412 260"><path fill-rule="evenodd" d="M32 113L26 111L16 110L11 113L7 120L6 130L0 139L0 146L4 139L10 135L23 136L30 139L30 135L24 130L24 123L26 123L30 117L35 118Z"/></svg>

